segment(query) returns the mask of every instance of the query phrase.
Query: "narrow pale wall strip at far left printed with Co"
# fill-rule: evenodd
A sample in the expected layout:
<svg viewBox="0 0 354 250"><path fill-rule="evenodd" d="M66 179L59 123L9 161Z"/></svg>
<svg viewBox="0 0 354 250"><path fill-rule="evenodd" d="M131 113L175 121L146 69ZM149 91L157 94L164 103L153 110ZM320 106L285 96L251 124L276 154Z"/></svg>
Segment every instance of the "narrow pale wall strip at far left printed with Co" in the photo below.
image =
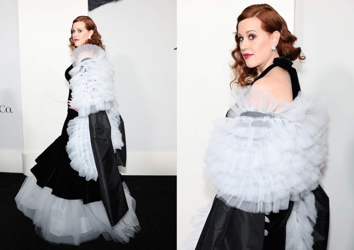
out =
<svg viewBox="0 0 354 250"><path fill-rule="evenodd" d="M0 0L0 159L5 171L22 171L21 82L17 1Z"/></svg>

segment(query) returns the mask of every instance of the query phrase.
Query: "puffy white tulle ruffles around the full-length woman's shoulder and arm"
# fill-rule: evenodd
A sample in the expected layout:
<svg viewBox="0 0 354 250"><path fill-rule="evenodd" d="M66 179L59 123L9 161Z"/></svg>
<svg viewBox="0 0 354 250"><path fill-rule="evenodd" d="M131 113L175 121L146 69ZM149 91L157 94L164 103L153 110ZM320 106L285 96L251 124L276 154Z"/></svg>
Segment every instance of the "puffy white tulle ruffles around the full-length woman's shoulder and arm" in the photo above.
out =
<svg viewBox="0 0 354 250"><path fill-rule="evenodd" d="M79 110L79 116L110 109L115 104L114 71L106 52L97 45L84 44L75 48L72 61L70 106Z"/></svg>

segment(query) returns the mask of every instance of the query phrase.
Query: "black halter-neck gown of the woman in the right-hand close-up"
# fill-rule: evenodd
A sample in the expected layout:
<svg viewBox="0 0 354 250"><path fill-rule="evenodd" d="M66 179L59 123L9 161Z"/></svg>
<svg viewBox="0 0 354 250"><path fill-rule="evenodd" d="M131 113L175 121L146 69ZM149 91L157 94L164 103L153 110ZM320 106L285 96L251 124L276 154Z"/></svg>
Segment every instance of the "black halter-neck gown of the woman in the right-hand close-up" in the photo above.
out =
<svg viewBox="0 0 354 250"><path fill-rule="evenodd" d="M275 66L280 66L289 72L293 99L295 99L301 89L296 69L292 67L289 58L284 56L274 58L273 64L268 66L255 81ZM229 111L226 116L229 115ZM325 250L329 232L329 198L320 185L312 192L318 210L318 218L312 233L313 249ZM270 212L267 215L270 220L268 223L265 222L265 213L247 213L229 207L215 196L195 250L285 250L286 222L292 207L293 202L290 201L288 209L279 210L279 213ZM264 236L264 230L268 231L267 236Z"/></svg>

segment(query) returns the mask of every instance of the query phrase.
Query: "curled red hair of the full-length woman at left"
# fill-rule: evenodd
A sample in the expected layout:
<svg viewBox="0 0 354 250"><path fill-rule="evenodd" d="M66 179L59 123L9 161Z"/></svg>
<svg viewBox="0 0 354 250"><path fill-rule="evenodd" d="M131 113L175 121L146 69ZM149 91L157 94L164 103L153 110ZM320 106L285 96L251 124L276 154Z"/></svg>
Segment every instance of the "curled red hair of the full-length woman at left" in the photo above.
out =
<svg viewBox="0 0 354 250"><path fill-rule="evenodd" d="M74 23L81 22L81 21L85 23L85 29L93 30L93 34L92 34L91 38L87 39L85 41L85 44L86 43L94 44L94 45L97 45L97 46L101 47L103 50L105 50L104 49L105 46L102 45L101 35L97 31L97 26L96 26L95 22L93 22L93 20L90 17L88 17L88 16L78 16L78 17L75 18L75 20L73 21L73 24L71 26L71 29L70 29L71 30L70 31L71 34L73 35L73 25L74 25ZM69 41L70 41L69 47L73 51L76 48L73 36L70 36Z"/></svg>

